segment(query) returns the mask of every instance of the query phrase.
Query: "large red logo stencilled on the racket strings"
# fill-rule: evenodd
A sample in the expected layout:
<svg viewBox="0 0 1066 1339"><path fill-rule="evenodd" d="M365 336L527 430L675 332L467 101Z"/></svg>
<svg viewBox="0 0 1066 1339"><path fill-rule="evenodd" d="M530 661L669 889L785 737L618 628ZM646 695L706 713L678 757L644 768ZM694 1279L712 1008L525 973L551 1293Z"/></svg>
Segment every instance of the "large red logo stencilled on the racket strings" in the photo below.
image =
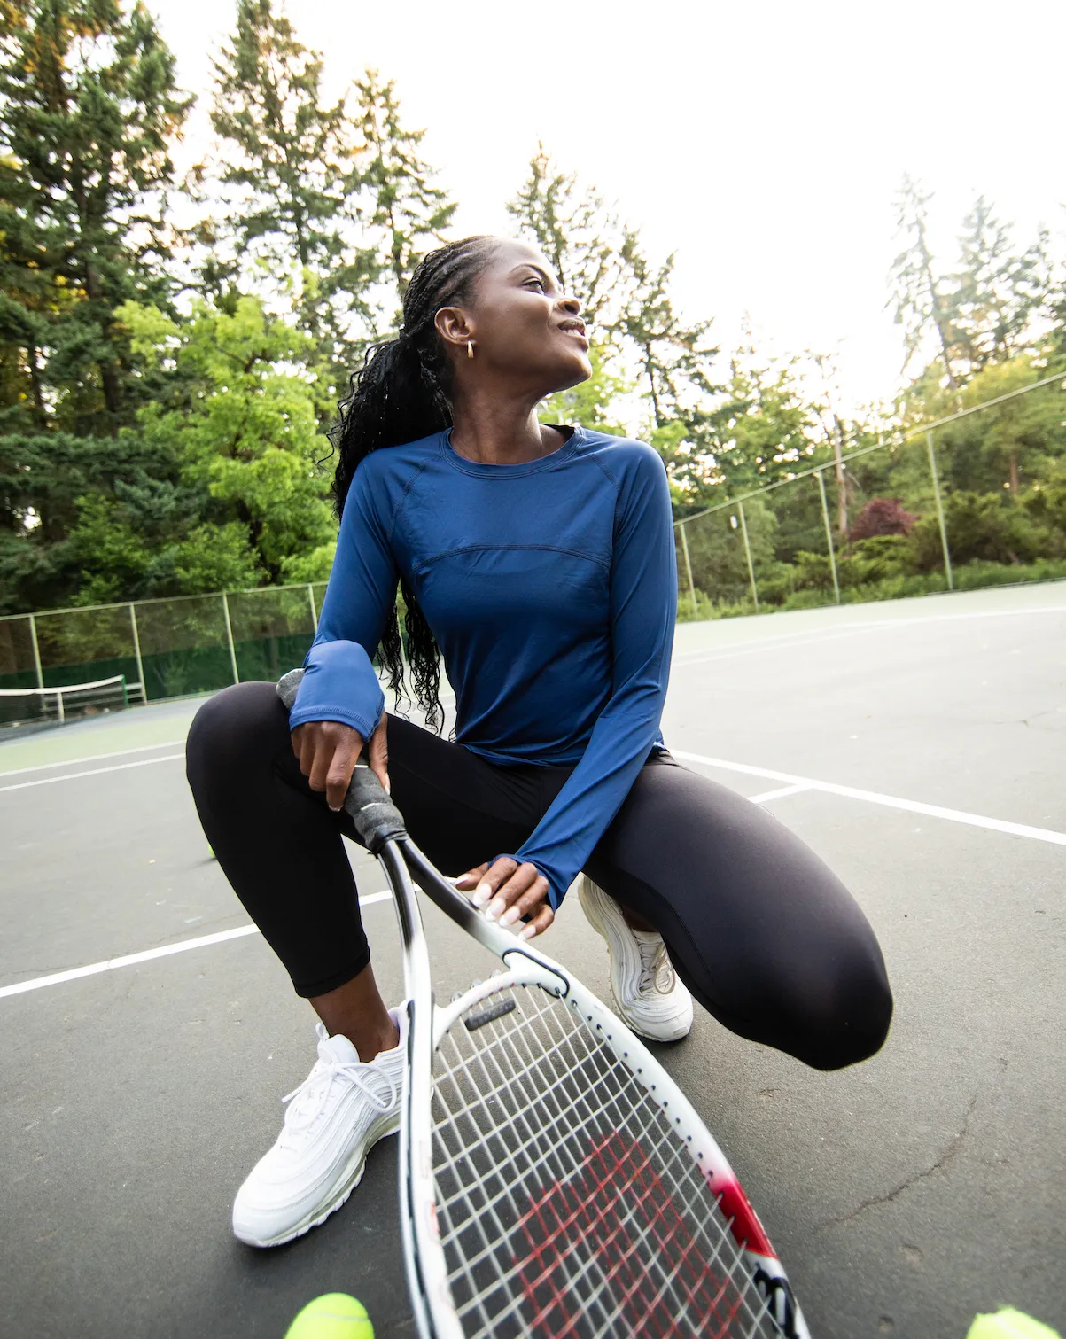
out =
<svg viewBox="0 0 1066 1339"><path fill-rule="evenodd" d="M644 1150L617 1131L592 1146L573 1177L533 1200L518 1229L528 1253L514 1263L533 1312L529 1332L540 1339L577 1334L585 1297L604 1279L600 1306L617 1307L628 1332L648 1339L725 1339L743 1307L741 1289L704 1257ZM583 1288L591 1260L597 1268ZM664 1273L672 1275L666 1297L655 1279ZM687 1323L675 1314L679 1297Z"/></svg>

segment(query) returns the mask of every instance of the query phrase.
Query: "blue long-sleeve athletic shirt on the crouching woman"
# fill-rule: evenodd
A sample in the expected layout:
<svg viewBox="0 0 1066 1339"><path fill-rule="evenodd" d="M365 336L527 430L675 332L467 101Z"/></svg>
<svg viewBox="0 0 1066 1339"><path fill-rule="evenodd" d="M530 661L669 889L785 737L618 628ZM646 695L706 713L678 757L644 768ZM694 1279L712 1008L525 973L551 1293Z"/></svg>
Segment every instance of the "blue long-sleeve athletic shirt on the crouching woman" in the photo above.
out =
<svg viewBox="0 0 1066 1339"><path fill-rule="evenodd" d="M662 743L678 592L666 470L650 446L580 427L522 465L467 461L450 438L356 470L289 720L370 738L384 708L371 657L403 573L455 690L458 743L504 766L577 765L514 853L557 908Z"/></svg>

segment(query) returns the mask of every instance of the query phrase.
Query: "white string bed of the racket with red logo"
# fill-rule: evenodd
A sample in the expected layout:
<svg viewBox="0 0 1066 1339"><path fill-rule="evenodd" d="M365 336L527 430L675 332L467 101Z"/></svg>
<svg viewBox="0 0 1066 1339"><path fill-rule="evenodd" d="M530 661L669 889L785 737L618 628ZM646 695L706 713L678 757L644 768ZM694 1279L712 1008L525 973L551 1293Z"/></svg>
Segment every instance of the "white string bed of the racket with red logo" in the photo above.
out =
<svg viewBox="0 0 1066 1339"><path fill-rule="evenodd" d="M434 1069L434 1177L469 1339L775 1335L718 1202L624 1060L537 987Z"/></svg>

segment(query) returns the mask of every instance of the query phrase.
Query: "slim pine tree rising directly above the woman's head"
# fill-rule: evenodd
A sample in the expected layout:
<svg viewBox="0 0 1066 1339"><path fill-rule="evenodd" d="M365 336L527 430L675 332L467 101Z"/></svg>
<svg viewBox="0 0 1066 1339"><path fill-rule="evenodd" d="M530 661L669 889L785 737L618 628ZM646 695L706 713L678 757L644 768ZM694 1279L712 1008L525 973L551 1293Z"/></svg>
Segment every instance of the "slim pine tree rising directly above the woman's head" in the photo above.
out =
<svg viewBox="0 0 1066 1339"><path fill-rule="evenodd" d="M363 135L360 179L370 195L364 225L379 242L396 296L403 299L419 257L451 222L455 205L433 185L434 170L419 158L425 130L404 130L396 86L375 70L355 80L356 125Z"/></svg>

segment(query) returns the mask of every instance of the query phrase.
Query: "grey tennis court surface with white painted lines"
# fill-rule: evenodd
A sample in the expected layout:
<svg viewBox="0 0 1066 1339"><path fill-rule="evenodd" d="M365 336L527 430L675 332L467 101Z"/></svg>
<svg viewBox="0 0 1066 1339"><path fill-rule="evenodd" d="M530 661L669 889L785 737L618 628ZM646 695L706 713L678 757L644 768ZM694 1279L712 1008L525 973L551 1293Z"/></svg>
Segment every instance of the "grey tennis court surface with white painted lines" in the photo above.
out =
<svg viewBox="0 0 1066 1339"><path fill-rule="evenodd" d="M410 1335L395 1141L323 1228L232 1240L313 1036L200 832L197 706L0 743L0 1334L280 1339L343 1289ZM812 1332L963 1339L999 1303L1066 1331L1066 582L682 625L664 732L829 861L896 992L884 1051L840 1074L706 1015L659 1048ZM398 1000L383 881L352 860ZM441 994L491 969L426 921ZM609 999L576 897L545 948Z"/></svg>

